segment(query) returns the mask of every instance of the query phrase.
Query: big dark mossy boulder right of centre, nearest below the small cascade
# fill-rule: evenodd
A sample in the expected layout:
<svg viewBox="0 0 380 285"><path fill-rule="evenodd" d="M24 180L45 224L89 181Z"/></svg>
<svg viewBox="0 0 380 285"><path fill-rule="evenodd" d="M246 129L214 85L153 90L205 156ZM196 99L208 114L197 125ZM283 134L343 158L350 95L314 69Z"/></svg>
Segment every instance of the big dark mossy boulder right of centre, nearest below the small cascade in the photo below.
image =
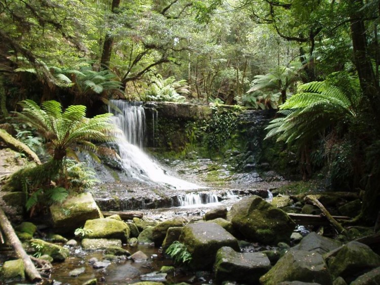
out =
<svg viewBox="0 0 380 285"><path fill-rule="evenodd" d="M284 211L256 195L235 203L227 220L247 240L266 245L276 245L280 241L289 242L295 227L293 220Z"/></svg>

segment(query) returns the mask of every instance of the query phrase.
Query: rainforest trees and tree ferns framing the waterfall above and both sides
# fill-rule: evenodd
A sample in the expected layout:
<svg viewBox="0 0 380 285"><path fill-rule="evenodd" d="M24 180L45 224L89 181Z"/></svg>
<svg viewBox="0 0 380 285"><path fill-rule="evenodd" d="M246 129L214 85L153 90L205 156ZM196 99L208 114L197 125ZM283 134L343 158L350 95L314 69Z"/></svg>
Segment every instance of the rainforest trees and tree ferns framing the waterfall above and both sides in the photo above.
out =
<svg viewBox="0 0 380 285"><path fill-rule="evenodd" d="M110 99L278 109L267 140L298 151L303 179L324 169L332 189L360 191L371 224L379 13L378 0L0 0L3 129L52 155L40 185L30 169L13 182L81 187L62 161L112 140Z"/></svg>

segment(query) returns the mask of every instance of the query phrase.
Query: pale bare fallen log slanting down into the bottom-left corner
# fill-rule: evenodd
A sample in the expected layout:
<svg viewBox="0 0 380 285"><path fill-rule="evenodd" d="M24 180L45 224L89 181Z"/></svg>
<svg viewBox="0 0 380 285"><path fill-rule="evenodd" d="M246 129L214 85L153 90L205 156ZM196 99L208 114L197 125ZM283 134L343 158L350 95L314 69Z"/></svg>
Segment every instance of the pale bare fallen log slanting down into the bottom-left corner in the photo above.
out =
<svg viewBox="0 0 380 285"><path fill-rule="evenodd" d="M11 243L16 256L22 259L24 263L25 272L30 281L40 282L42 277L40 273L35 269L33 262L31 261L28 254L24 251L20 240L18 239L11 223L9 222L7 216L5 215L3 209L0 207L0 226L7 237L8 241Z"/></svg>

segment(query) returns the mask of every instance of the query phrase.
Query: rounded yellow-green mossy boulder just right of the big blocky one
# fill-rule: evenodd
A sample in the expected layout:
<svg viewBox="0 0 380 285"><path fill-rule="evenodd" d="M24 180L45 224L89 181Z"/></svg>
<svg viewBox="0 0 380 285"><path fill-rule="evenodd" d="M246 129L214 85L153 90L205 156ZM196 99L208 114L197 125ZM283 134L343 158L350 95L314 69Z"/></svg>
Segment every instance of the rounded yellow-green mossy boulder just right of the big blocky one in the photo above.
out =
<svg viewBox="0 0 380 285"><path fill-rule="evenodd" d="M122 242L127 242L130 234L126 223L108 218L87 220L84 229L91 231L86 234L88 238L116 238Z"/></svg>

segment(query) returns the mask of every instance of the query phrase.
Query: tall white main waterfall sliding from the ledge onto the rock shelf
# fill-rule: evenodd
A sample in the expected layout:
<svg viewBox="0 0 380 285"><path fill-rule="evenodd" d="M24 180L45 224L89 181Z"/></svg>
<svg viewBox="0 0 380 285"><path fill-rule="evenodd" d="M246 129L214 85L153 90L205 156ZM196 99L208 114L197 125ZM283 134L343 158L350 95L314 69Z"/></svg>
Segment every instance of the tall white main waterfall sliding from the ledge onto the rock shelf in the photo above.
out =
<svg viewBox="0 0 380 285"><path fill-rule="evenodd" d="M145 113L141 105L140 102L111 100L108 107L108 111L114 114L113 125L122 131L117 145L125 171L140 181L153 181L175 189L198 189L199 186L194 183L167 175L157 162L143 152Z"/></svg>

